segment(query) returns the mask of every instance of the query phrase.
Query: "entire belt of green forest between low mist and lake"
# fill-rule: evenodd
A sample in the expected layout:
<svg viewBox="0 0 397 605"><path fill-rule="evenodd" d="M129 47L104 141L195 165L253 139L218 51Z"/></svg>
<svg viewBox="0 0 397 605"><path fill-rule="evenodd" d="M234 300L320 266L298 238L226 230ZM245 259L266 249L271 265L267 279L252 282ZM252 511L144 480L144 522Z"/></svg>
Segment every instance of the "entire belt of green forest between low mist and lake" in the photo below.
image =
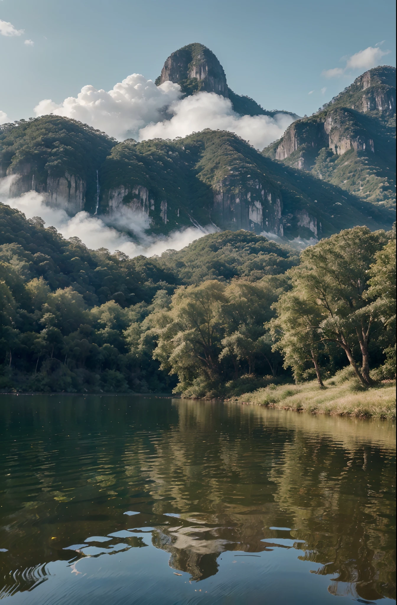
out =
<svg viewBox="0 0 397 605"><path fill-rule="evenodd" d="M395 231L298 257L247 231L161 257L65 240L0 205L0 389L225 397L345 365L395 375Z"/></svg>

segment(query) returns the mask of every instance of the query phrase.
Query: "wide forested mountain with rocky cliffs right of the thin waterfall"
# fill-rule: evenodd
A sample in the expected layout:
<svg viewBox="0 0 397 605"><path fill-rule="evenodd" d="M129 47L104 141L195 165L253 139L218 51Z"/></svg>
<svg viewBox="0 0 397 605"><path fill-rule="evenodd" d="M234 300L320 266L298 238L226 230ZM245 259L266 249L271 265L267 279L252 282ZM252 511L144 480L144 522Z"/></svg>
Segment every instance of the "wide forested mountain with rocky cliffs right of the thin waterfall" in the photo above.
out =
<svg viewBox="0 0 397 605"><path fill-rule="evenodd" d="M131 209L159 233L212 223L287 240L316 240L353 224L375 227L370 204L294 173L229 132L120 143L102 168L100 212Z"/></svg>

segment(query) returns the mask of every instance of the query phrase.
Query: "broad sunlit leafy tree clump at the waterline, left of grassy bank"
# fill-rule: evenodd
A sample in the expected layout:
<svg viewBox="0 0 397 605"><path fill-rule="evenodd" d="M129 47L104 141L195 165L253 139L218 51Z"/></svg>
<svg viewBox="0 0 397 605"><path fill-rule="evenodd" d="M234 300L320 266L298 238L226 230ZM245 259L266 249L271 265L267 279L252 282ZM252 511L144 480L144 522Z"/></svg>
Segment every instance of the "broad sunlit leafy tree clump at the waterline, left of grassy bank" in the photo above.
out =
<svg viewBox="0 0 397 605"><path fill-rule="evenodd" d="M177 391L219 396L229 379L254 373L258 362L262 372L266 362L275 375L280 358L271 351L265 323L285 281L207 280L176 290L169 310L153 316L153 355L162 369L177 374Z"/></svg>

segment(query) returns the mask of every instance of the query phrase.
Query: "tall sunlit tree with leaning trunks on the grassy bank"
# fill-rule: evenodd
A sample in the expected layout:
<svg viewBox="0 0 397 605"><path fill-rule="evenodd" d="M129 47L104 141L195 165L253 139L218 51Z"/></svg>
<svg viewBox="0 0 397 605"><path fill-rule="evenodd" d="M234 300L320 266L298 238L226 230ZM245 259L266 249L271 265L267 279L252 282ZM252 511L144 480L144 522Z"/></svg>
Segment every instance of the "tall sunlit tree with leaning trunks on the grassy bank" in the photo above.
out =
<svg viewBox="0 0 397 605"><path fill-rule="evenodd" d="M364 293L370 264L385 242L382 231L346 229L304 250L300 266L288 272L294 289L300 290L310 307L318 307L311 329L320 332L319 342L335 342L343 348L364 385L372 382L368 342L374 321ZM356 344L361 350L361 371L353 355Z"/></svg>

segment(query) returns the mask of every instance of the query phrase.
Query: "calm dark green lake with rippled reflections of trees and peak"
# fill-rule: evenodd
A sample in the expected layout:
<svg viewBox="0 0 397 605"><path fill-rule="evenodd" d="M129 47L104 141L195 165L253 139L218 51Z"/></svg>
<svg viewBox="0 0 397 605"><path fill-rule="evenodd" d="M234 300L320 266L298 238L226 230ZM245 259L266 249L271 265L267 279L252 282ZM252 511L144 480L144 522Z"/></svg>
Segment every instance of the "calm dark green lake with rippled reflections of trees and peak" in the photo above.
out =
<svg viewBox="0 0 397 605"><path fill-rule="evenodd" d="M6 603L394 602L390 422L2 395L0 439Z"/></svg>

